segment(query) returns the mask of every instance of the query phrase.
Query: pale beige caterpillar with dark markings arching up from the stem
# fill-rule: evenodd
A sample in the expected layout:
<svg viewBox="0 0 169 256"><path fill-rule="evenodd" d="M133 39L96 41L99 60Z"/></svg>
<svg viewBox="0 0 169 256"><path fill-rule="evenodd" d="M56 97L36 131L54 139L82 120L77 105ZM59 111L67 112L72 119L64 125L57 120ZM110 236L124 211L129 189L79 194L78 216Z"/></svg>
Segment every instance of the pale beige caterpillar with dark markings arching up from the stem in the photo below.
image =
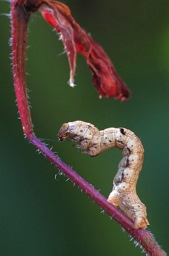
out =
<svg viewBox="0 0 169 256"><path fill-rule="evenodd" d="M122 150L113 189L107 201L121 210L134 222L133 228L146 229L149 222L145 205L136 193L136 184L143 163L143 145L134 132L126 128L107 128L99 131L93 124L83 121L64 123L59 130L61 141L70 138L83 154L97 156L106 149Z"/></svg>

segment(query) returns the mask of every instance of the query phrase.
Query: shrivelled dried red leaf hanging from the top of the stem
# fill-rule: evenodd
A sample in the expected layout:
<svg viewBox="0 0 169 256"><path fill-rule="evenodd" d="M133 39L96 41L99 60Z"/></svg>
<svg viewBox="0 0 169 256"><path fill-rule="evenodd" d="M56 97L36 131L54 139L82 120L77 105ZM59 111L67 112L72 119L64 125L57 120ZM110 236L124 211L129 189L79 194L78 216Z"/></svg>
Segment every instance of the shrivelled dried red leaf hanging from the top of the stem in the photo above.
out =
<svg viewBox="0 0 169 256"><path fill-rule="evenodd" d="M99 98L106 96L125 101L130 97L129 89L118 76L103 48L73 19L68 6L57 1L43 0L39 11L61 34L70 65L70 86L74 86L76 53L79 52L85 56L86 63L92 71L92 80L99 92Z"/></svg>

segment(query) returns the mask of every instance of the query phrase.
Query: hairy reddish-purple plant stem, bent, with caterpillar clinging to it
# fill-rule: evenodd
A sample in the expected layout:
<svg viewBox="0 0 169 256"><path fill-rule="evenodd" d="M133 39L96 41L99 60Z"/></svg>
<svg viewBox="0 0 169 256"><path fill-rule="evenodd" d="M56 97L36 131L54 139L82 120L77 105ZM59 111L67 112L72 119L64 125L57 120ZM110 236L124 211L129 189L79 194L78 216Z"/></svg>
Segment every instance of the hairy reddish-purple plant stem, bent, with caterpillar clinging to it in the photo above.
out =
<svg viewBox="0 0 169 256"><path fill-rule="evenodd" d="M37 0L12 0L11 1L11 28L12 28L12 59L13 79L17 105L22 122L22 128L26 138L37 147L48 160L60 169L68 178L116 220L133 238L140 247L150 256L164 256L165 252L157 245L152 234L146 230L134 229L132 221L114 205L107 202L92 185L81 178L73 169L68 167L46 145L44 145L33 133L33 125L28 106L26 91L26 42L28 20L31 12L36 11L41 4Z"/></svg>

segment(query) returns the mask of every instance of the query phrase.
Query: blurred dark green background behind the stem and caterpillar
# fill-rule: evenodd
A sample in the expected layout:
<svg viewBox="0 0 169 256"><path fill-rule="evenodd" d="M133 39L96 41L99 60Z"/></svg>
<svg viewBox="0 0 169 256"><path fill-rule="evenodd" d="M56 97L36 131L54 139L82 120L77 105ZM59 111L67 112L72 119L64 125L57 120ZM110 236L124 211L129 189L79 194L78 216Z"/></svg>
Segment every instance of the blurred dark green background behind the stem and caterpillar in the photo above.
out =
<svg viewBox="0 0 169 256"><path fill-rule="evenodd" d="M73 17L104 47L132 92L121 103L99 100L83 56L75 88L58 36L31 16L27 84L37 137L56 139L64 122L83 120L100 130L125 127L141 138L145 160L137 191L158 243L169 252L169 1L65 0ZM0 1L9 13L9 2ZM11 74L10 20L0 16L0 251L3 256L139 256L127 232L36 152L22 132ZM61 54L61 55L60 55ZM71 143L46 141L108 197L121 151L96 158Z"/></svg>

